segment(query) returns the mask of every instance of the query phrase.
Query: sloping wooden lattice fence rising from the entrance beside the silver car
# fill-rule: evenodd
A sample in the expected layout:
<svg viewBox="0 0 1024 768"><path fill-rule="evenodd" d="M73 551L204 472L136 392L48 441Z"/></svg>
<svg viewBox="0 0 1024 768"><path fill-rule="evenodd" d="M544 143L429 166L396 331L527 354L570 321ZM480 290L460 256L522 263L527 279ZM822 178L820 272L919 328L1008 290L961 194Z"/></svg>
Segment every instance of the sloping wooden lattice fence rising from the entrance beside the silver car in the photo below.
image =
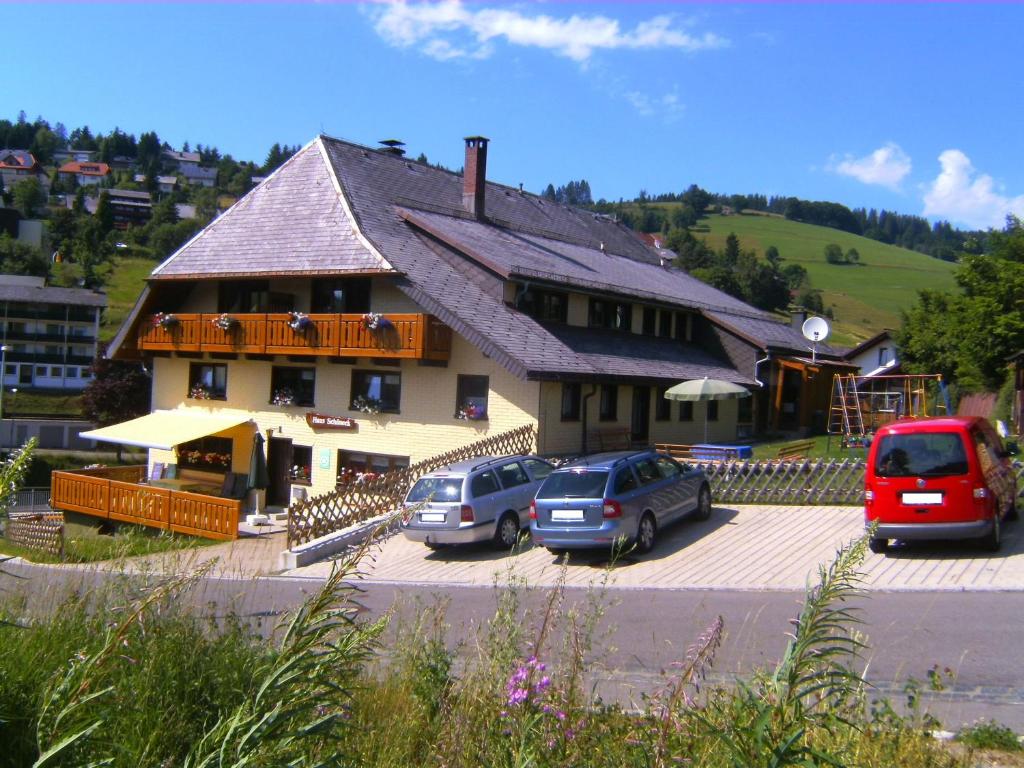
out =
<svg viewBox="0 0 1024 768"><path fill-rule="evenodd" d="M305 544L396 509L416 480L439 467L477 456L529 454L536 444L537 430L526 424L433 456L407 469L386 472L366 482L349 483L334 493L296 502L288 509L288 546Z"/></svg>

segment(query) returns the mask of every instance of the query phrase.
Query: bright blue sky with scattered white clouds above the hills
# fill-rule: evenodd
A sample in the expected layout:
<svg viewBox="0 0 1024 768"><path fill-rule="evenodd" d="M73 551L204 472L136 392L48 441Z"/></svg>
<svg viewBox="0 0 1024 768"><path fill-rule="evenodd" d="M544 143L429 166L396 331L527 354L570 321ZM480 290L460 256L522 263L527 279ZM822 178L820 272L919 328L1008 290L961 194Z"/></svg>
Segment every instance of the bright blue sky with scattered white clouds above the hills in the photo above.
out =
<svg viewBox="0 0 1024 768"><path fill-rule="evenodd" d="M1024 216L1014 3L3 3L0 117L262 162L318 133L595 199ZM31 32L29 32L31 31Z"/></svg>

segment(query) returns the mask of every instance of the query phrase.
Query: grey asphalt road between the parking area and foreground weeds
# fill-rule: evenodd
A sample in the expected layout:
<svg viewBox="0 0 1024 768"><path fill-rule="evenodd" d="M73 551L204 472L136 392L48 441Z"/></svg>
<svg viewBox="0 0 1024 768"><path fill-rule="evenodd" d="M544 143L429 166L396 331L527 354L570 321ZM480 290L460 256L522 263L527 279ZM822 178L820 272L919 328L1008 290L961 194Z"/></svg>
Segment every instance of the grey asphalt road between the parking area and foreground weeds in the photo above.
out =
<svg viewBox="0 0 1024 768"><path fill-rule="evenodd" d="M86 589L111 578L94 569L69 569L4 563L18 579L0 580L7 593L27 593L29 604L45 609L62 589ZM234 613L264 634L282 613L295 607L318 582L308 579L210 578L187 600L204 615ZM368 615L397 606L410 616L438 597L447 601L450 643L471 638L474 628L494 614L497 592L487 587L415 586L364 581L359 602ZM530 622L543 607L543 591L523 593ZM682 658L686 648L718 615L725 640L713 678L728 681L762 666L774 665L785 647L790 622L803 595L798 592L736 590L643 590L612 588L602 600L604 632L591 669L606 699L639 701L660 681L660 672ZM585 590L566 591L564 613L586 601ZM1021 592L872 592L855 603L870 648L863 665L866 677L899 705L910 678L927 680L937 666L953 678L942 692L924 696L930 711L955 729L977 718L992 718L1024 731L1024 667L1017 638L1024 611ZM605 634L606 633L606 634Z"/></svg>

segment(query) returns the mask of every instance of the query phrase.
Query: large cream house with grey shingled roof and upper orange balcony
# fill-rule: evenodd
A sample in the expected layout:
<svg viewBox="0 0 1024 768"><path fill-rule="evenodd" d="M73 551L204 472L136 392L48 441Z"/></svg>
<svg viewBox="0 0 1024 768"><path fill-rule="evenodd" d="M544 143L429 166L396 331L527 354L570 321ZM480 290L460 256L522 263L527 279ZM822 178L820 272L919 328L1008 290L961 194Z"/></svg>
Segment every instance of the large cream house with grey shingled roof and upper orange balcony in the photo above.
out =
<svg viewBox="0 0 1024 768"><path fill-rule="evenodd" d="M221 475L263 435L284 505L524 424L545 454L823 424L827 346L608 216L486 181L487 143L456 174L311 141L154 269L111 354L151 367L155 414L92 435ZM705 376L755 396L663 397Z"/></svg>

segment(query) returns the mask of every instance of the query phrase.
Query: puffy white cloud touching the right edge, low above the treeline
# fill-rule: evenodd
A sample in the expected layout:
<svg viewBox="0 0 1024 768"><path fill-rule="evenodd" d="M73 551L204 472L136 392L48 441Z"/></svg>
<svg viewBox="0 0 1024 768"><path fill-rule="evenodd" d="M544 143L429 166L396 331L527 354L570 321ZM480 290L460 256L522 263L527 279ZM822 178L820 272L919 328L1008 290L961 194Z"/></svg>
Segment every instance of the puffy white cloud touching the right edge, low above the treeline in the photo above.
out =
<svg viewBox="0 0 1024 768"><path fill-rule="evenodd" d="M1008 198L987 174L979 174L959 150L939 155L942 171L925 191L925 216L976 228L1001 227L1007 214L1024 216L1024 195Z"/></svg>

